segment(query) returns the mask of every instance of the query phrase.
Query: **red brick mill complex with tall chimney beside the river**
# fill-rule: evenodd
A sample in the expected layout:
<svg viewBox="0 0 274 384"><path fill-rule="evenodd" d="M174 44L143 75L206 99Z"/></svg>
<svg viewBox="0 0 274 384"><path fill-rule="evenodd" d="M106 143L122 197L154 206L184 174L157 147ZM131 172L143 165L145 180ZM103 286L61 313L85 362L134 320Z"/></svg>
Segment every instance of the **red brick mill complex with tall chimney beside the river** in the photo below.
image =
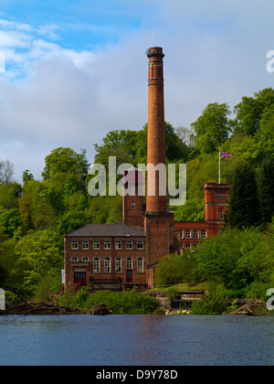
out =
<svg viewBox="0 0 274 384"><path fill-rule="evenodd" d="M165 165L163 57L162 48L148 50L147 164L155 166ZM179 222L159 192L159 172L155 194L146 191L146 204L138 194L142 172L131 168L124 175L130 193L122 197L122 222L88 224L65 236L66 289L83 284L93 290L153 287L154 268L164 255L191 250L223 227L229 185L205 184L205 221Z"/></svg>

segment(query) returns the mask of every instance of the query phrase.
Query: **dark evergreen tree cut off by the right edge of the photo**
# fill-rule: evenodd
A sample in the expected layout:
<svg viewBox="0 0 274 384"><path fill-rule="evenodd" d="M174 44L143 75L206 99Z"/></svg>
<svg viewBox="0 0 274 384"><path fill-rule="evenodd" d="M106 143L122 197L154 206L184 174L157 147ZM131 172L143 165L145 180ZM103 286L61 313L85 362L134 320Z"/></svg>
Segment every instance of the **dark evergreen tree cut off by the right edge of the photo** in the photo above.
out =
<svg viewBox="0 0 274 384"><path fill-rule="evenodd" d="M274 217L274 158L265 158L258 168L258 201L260 221L270 223Z"/></svg>

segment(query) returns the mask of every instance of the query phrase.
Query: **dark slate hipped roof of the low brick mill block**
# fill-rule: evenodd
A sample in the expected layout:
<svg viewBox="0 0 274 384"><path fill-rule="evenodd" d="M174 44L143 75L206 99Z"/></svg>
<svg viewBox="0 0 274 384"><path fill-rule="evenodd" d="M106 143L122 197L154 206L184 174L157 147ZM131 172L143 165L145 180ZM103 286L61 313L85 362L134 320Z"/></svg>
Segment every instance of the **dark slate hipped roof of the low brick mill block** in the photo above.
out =
<svg viewBox="0 0 274 384"><path fill-rule="evenodd" d="M143 232L121 223L114 224L87 224L82 228L76 229L67 235L68 237L75 236L90 236L90 237L111 237L111 236L145 236Z"/></svg>

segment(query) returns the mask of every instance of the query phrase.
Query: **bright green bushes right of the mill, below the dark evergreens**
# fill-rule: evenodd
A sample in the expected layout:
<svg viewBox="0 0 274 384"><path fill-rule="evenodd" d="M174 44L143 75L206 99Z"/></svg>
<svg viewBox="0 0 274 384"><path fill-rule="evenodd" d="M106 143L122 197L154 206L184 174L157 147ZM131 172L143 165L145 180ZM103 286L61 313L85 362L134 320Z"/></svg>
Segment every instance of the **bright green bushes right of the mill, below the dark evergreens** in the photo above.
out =
<svg viewBox="0 0 274 384"><path fill-rule="evenodd" d="M264 232L227 229L222 236L203 241L195 250L196 278L246 292L254 283L273 283L273 229L273 224Z"/></svg>

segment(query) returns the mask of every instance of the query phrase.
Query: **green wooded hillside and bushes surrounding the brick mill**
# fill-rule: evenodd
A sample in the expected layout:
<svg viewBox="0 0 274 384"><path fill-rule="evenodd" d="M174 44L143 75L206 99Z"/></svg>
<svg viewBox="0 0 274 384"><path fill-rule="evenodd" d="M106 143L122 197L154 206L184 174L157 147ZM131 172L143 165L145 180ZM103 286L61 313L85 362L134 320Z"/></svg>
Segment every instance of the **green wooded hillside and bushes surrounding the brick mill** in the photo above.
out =
<svg viewBox="0 0 274 384"><path fill-rule="evenodd" d="M233 112L227 103L210 103L191 128L165 123L166 163L187 165L186 202L169 208L177 221L205 219L204 185L218 182L221 147L233 153L221 159L221 182L233 183L229 213L222 236L183 256L165 256L158 284L212 281L231 297L264 298L274 287L274 90L243 97ZM147 124L140 131L114 130L95 145L94 162L107 170L109 156L116 156L117 166L146 164L146 145ZM38 302L59 293L64 235L87 223L121 220L120 196L90 197L88 168L86 150L59 147L46 156L39 179L26 170L18 183L12 162L0 161L0 287L5 291Z"/></svg>

